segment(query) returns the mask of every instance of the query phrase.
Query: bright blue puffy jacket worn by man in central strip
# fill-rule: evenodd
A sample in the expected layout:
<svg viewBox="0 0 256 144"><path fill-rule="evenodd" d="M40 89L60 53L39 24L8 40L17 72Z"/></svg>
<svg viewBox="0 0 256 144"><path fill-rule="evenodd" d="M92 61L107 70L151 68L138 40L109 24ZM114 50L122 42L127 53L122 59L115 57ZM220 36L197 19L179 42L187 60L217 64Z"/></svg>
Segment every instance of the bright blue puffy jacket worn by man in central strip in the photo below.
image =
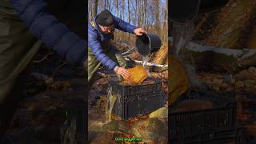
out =
<svg viewBox="0 0 256 144"><path fill-rule="evenodd" d="M88 24L88 45L90 46L90 49L93 51L99 62L107 66L109 70L114 70L114 67L117 66L117 63L103 53L102 46L100 44L101 42L109 41L110 39L114 38L114 34L102 34L95 21L97 17L98 15L94 18L95 26L92 26L90 22ZM122 21L120 18L114 17L114 29L115 28L125 32L134 33L134 29L137 27Z"/></svg>

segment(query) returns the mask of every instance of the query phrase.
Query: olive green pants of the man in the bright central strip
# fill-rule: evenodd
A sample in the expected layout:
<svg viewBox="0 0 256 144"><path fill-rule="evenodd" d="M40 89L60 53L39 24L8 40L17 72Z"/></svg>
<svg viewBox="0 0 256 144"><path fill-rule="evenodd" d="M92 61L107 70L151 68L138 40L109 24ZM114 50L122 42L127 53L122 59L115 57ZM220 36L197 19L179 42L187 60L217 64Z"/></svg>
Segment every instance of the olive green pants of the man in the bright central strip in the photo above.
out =
<svg viewBox="0 0 256 144"><path fill-rule="evenodd" d="M112 45L111 42L105 42L102 43L102 49L104 53L110 57L114 62L117 62L119 66L126 68L126 59L122 57L122 54L119 53L119 51L115 48L114 45ZM96 74L96 71L98 70L99 66L101 66L101 62L98 61L96 56L93 54L93 52L90 50L90 47L88 48L88 85L89 89L92 86L94 82L94 77ZM118 75L119 80L122 80L122 76Z"/></svg>

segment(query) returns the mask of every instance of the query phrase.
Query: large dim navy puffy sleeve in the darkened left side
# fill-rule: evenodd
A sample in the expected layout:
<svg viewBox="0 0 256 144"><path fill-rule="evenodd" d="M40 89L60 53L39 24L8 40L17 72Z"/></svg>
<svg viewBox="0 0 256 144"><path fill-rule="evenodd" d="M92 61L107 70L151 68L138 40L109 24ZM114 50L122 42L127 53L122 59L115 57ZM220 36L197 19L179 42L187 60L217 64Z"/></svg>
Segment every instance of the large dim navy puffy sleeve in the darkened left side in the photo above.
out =
<svg viewBox="0 0 256 144"><path fill-rule="evenodd" d="M49 13L44 0L10 0L30 32L71 63L86 58L87 44Z"/></svg>

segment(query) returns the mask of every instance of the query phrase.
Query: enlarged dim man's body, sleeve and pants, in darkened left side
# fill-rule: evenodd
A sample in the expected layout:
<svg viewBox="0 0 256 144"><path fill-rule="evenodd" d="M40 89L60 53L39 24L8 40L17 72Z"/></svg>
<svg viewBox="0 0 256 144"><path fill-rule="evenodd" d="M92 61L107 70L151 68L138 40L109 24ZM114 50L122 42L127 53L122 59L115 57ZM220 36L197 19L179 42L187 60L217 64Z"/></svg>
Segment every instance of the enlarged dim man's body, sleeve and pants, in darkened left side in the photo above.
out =
<svg viewBox="0 0 256 144"><path fill-rule="evenodd" d="M42 43L71 63L85 61L85 8L76 0L0 0L0 139Z"/></svg>

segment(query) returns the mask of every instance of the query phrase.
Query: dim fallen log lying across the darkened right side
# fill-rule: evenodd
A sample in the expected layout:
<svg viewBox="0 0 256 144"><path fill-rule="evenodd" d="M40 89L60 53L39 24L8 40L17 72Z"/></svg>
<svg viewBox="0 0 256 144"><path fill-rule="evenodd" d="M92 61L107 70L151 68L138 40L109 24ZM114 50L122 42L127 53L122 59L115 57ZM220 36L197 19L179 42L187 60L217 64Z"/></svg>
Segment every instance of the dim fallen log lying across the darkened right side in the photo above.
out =
<svg viewBox="0 0 256 144"><path fill-rule="evenodd" d="M195 70L234 72L256 66L256 50L234 50L189 42L181 52L182 62Z"/></svg>

